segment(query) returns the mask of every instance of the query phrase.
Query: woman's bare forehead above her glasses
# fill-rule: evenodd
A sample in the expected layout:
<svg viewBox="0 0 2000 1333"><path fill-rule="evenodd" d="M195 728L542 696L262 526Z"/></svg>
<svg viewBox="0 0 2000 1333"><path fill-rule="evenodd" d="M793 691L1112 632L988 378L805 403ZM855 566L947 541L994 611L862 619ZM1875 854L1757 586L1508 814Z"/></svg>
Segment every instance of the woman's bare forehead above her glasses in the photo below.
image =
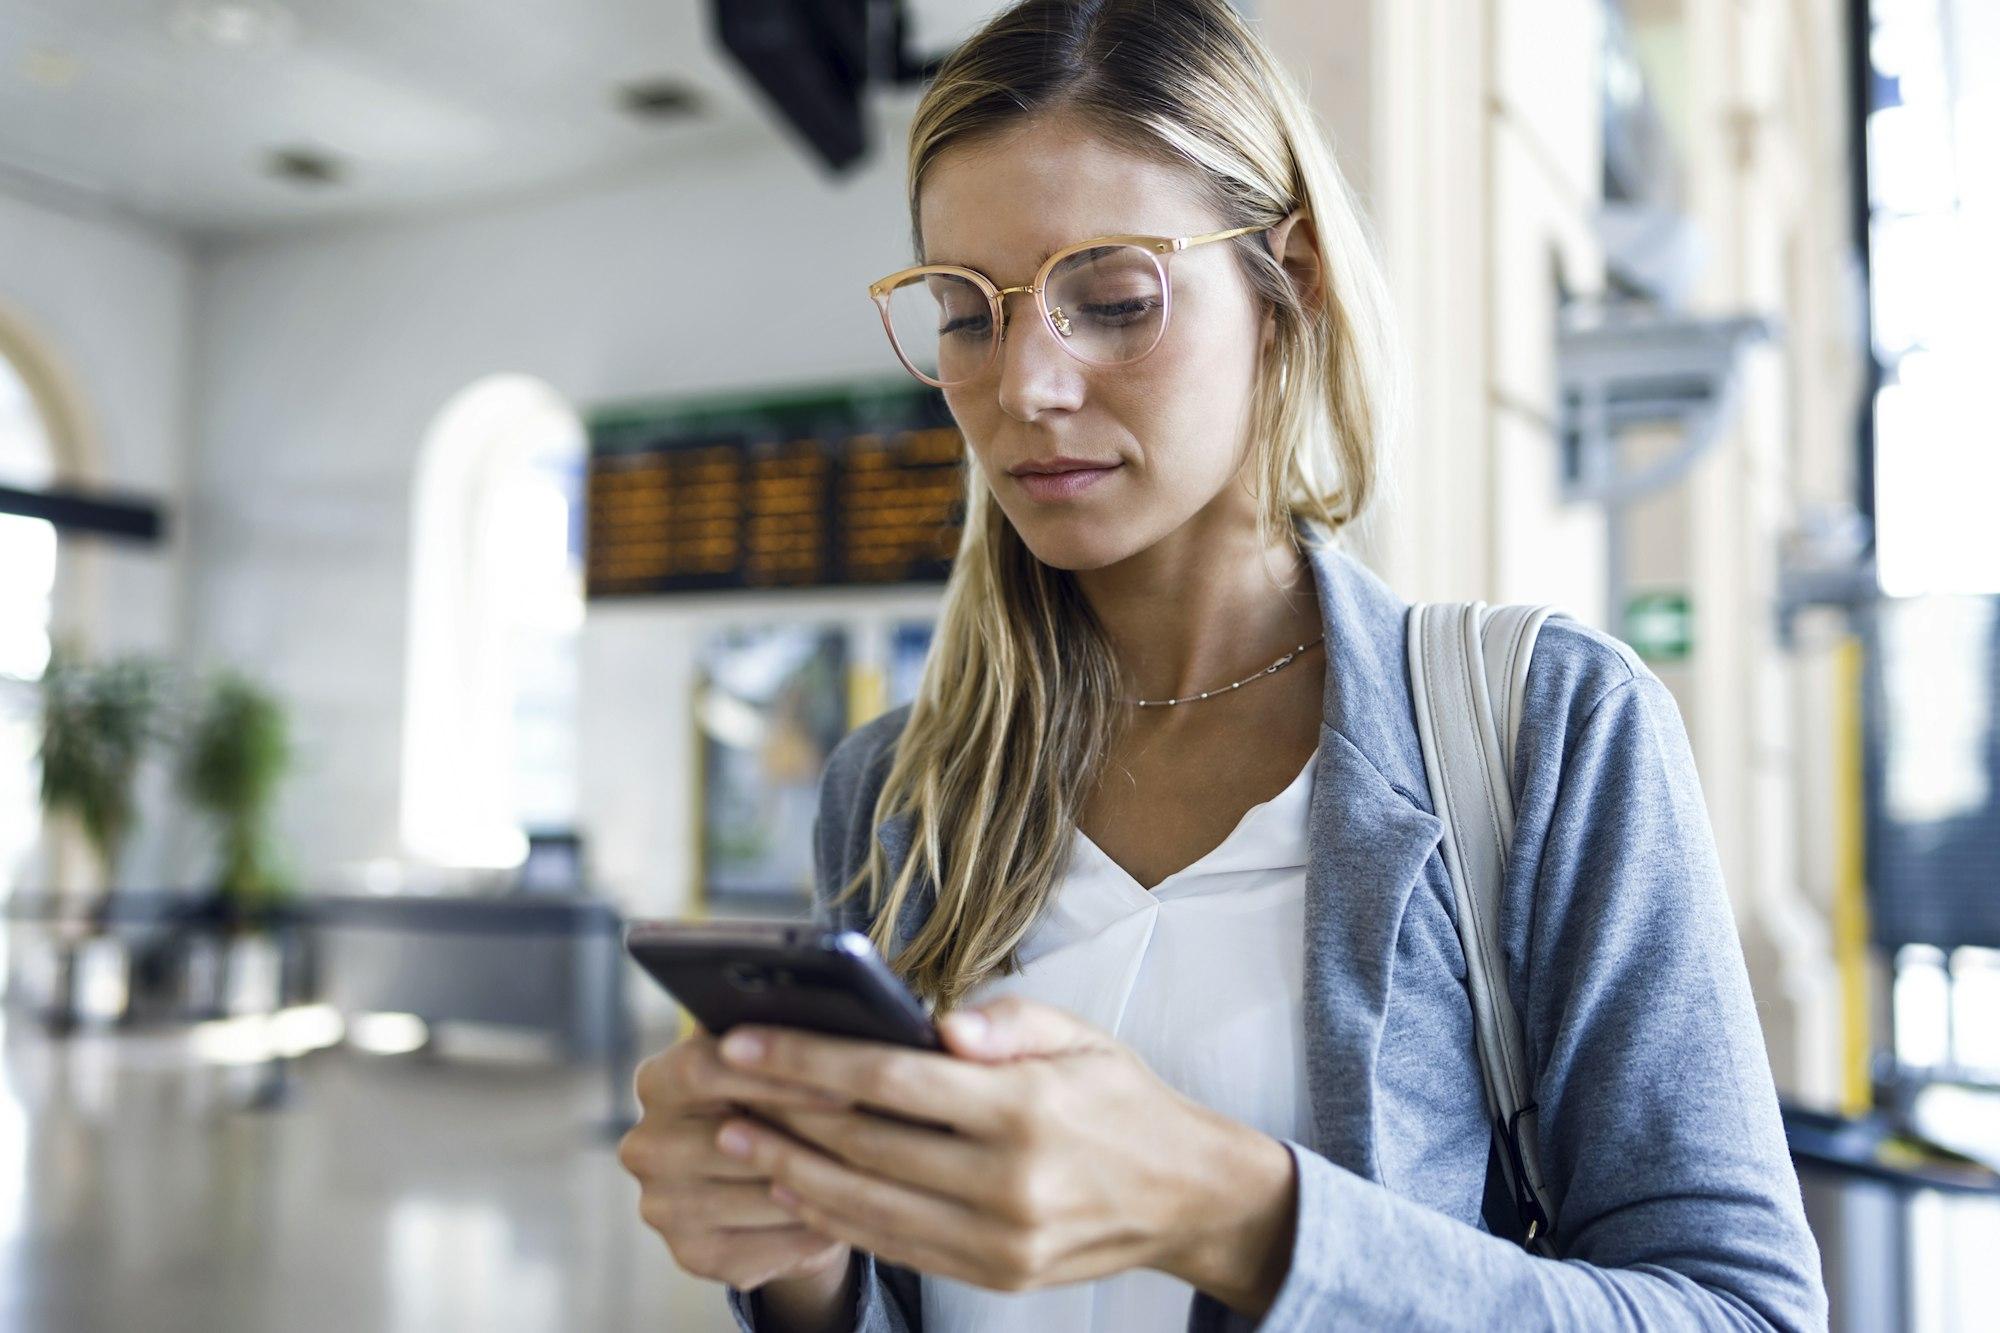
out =
<svg viewBox="0 0 2000 1333"><path fill-rule="evenodd" d="M942 152L918 200L924 260L1026 282L1054 250L1140 232L1216 230L1188 170L1142 158L1074 122L1036 120Z"/></svg>

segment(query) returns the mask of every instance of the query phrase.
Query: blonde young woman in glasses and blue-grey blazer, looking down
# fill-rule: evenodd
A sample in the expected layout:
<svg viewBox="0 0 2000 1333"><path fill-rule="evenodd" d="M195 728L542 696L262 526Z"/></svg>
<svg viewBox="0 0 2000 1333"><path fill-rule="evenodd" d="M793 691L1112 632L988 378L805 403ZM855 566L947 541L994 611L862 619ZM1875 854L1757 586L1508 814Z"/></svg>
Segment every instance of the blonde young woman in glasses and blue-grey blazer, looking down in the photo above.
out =
<svg viewBox="0 0 2000 1333"><path fill-rule="evenodd" d="M872 294L964 538L814 833L950 1053L646 1061L620 1161L682 1267L764 1333L1824 1325L1680 715L1574 620L1502 905L1558 1257L1492 1185L1406 604L1336 546L1382 284L1268 50L1224 0L1018 4L926 92L910 210Z"/></svg>

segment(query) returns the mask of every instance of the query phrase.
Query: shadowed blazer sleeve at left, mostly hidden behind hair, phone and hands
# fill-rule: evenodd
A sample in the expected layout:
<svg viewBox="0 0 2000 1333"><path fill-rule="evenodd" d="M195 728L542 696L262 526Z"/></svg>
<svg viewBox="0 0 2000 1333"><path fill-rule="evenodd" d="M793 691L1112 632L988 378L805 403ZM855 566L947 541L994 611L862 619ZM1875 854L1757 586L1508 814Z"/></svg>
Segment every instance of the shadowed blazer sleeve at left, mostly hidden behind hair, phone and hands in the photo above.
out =
<svg viewBox="0 0 2000 1333"><path fill-rule="evenodd" d="M852 877L874 841L874 795L882 783L884 741L902 731L908 707L848 733L826 757L820 775L820 805L812 821L814 907L828 919L860 925L850 907L832 911L828 901ZM834 879L838 875L840 879ZM860 1265L850 1327L854 1333L920 1333L924 1307L918 1273L854 1251ZM758 1333L756 1303L738 1287L724 1287L730 1313L742 1333Z"/></svg>

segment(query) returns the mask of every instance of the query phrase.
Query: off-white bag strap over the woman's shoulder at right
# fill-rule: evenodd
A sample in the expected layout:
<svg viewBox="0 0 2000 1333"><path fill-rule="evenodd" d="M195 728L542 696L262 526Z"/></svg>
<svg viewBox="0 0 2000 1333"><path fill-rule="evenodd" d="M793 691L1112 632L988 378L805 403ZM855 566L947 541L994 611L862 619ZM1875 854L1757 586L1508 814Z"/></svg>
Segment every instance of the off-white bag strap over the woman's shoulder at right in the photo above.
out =
<svg viewBox="0 0 2000 1333"><path fill-rule="evenodd" d="M1554 606L1432 602L1410 608L1410 697L1444 869L1458 905L1466 989L1500 1165L1530 1249L1554 1253L1556 1209L1534 1133L1528 1043L1506 981L1500 887L1514 843L1514 741L1528 658Z"/></svg>

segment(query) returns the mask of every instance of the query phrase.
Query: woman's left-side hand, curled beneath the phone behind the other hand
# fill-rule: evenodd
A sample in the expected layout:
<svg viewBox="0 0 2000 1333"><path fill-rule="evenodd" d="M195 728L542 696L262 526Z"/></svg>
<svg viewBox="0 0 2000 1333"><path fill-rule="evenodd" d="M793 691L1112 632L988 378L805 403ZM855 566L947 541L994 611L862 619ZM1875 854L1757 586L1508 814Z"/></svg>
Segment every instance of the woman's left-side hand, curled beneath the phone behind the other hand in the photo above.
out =
<svg viewBox="0 0 2000 1333"><path fill-rule="evenodd" d="M818 1233L770 1199L770 1173L716 1151L716 1129L782 1107L826 1105L796 1083L730 1069L698 1025L638 1067L640 1123L618 1141L618 1163L640 1183L640 1217L696 1277L750 1291L780 1279L838 1287L848 1245Z"/></svg>

